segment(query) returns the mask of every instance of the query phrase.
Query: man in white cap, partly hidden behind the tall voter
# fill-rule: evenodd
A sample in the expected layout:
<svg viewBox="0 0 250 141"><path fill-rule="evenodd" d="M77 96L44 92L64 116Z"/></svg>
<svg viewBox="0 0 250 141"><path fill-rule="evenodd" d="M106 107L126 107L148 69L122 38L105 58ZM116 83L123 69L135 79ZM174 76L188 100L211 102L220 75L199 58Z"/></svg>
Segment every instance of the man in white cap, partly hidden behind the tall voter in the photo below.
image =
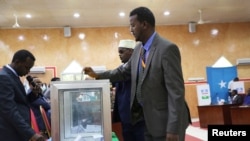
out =
<svg viewBox="0 0 250 141"><path fill-rule="evenodd" d="M123 65L119 67L126 66L135 45L134 40L120 40L118 53ZM116 95L112 119L113 122L121 122L123 141L144 141L144 121L132 125L130 120L131 80L120 81L113 85L116 88Z"/></svg>

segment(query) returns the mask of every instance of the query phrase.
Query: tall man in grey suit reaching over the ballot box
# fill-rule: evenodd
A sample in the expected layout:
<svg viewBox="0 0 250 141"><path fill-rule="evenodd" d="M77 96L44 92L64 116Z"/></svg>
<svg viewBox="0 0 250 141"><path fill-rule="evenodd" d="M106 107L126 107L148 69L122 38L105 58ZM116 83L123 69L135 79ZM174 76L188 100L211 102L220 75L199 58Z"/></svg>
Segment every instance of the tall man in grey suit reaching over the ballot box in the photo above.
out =
<svg viewBox="0 0 250 141"><path fill-rule="evenodd" d="M180 51L156 33L154 15L146 7L130 12L130 31L141 44L125 67L103 73L86 67L85 74L111 82L131 77L131 118L133 123L145 119L145 141L184 141L191 121Z"/></svg>

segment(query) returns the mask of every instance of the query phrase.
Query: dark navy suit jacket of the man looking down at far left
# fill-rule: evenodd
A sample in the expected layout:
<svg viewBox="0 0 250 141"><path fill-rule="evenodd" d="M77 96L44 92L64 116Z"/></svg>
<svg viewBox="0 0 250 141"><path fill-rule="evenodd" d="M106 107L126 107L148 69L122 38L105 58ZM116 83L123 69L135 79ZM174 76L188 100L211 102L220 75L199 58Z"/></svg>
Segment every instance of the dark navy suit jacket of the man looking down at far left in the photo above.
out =
<svg viewBox="0 0 250 141"><path fill-rule="evenodd" d="M0 140L28 141L31 128L30 107L19 77L9 68L0 71Z"/></svg>

